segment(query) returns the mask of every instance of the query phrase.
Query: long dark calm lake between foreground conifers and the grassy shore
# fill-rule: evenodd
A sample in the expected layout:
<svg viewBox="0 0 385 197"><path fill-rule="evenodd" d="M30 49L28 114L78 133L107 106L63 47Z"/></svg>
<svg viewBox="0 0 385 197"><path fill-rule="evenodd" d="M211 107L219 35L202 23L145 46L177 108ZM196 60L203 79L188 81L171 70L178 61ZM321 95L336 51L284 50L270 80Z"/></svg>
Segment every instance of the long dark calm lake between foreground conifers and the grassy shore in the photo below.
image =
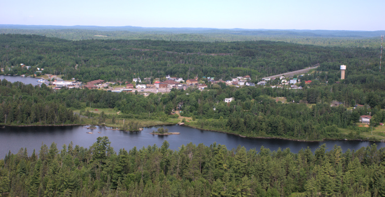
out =
<svg viewBox="0 0 385 197"><path fill-rule="evenodd" d="M132 149L136 146L138 149L153 146L156 144L160 147L164 140L170 143L170 148L178 150L182 144L186 145L192 142L195 145L203 143L206 146L217 142L217 144L226 145L230 150L236 148L238 145L244 146L246 149L259 149L261 146L269 148L271 151L278 150L278 148L285 149L290 148L294 153L298 153L302 148L310 147L314 151L318 146L326 144L327 150L331 150L336 144L341 146L344 152L347 149L357 150L361 147L372 145L374 142L368 141L323 141L323 142L300 142L283 139L259 139L259 138L244 138L232 134L215 132L215 131L203 131L193 129L189 127L174 125L163 126L167 128L169 132L180 132L179 135L153 135L152 131L156 131L159 127L145 128L143 131L138 132L125 132L109 130L106 127L98 127L92 130L93 134L88 134L87 130L82 126L58 126L58 127L8 127L0 129L0 158L5 157L5 154L10 150L13 154L16 154L20 148L27 148L29 154L32 154L35 149L38 153L42 143L48 147L52 142L55 142L60 150L63 144L68 145L71 141L74 145L83 146L88 148L99 136L108 136L111 145L115 151L121 148L126 150ZM100 133L98 133L100 132ZM384 142L377 142L378 148L385 147Z"/></svg>

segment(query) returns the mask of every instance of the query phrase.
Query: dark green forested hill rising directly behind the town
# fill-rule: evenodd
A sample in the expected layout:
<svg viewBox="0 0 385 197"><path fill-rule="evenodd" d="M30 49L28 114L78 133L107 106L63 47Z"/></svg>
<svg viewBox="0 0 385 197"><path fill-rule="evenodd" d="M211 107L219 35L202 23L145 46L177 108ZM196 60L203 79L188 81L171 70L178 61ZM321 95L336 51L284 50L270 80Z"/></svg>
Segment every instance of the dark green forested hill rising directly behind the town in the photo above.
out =
<svg viewBox="0 0 385 197"><path fill-rule="evenodd" d="M44 68L43 74L61 73L66 78L82 81L130 81L133 77L166 74L184 79L196 75L224 80L250 75L255 79L315 64L328 69L338 69L345 64L367 72L377 69L379 62L379 51L372 48L331 48L273 41L71 41L39 35L0 34L0 43L0 66L5 68L5 74L33 74L36 67L40 67ZM22 69L20 64L32 68Z"/></svg>

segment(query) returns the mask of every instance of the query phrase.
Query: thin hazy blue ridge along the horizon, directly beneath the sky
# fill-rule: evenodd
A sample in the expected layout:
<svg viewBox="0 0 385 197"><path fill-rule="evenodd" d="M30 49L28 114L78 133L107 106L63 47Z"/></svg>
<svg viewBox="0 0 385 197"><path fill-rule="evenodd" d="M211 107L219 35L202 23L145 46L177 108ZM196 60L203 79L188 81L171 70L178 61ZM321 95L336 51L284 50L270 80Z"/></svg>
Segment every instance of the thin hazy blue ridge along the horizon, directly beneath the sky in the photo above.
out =
<svg viewBox="0 0 385 197"><path fill-rule="evenodd" d="M165 33L227 33L235 35L296 35L310 37L376 37L385 31L344 31L344 30L268 30L268 29L215 29L215 28L145 28L134 26L54 26L54 25L0 25L0 29L19 30L93 30Z"/></svg>

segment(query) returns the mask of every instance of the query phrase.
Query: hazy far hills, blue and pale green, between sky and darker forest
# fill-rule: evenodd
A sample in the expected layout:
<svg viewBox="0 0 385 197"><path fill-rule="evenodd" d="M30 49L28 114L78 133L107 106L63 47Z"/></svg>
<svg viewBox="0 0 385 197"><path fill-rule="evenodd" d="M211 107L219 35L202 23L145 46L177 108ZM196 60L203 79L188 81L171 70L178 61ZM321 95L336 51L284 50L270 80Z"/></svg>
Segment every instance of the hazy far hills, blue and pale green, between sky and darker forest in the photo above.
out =
<svg viewBox="0 0 385 197"><path fill-rule="evenodd" d="M203 42L271 40L320 46L378 48L381 42L380 35L385 34L385 31L0 25L0 33L38 34L70 40L152 39Z"/></svg>

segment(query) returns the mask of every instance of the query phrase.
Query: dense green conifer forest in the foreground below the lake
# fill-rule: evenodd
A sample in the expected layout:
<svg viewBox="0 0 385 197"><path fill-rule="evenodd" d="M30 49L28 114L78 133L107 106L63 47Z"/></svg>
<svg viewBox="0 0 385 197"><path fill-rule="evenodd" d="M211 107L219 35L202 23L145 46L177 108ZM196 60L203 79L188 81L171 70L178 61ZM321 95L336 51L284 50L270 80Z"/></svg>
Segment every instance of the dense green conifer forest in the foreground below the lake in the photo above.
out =
<svg viewBox="0 0 385 197"><path fill-rule="evenodd" d="M89 148L42 144L0 160L0 195L10 197L383 197L385 149L322 145L271 152L212 144L120 149L107 137Z"/></svg>

